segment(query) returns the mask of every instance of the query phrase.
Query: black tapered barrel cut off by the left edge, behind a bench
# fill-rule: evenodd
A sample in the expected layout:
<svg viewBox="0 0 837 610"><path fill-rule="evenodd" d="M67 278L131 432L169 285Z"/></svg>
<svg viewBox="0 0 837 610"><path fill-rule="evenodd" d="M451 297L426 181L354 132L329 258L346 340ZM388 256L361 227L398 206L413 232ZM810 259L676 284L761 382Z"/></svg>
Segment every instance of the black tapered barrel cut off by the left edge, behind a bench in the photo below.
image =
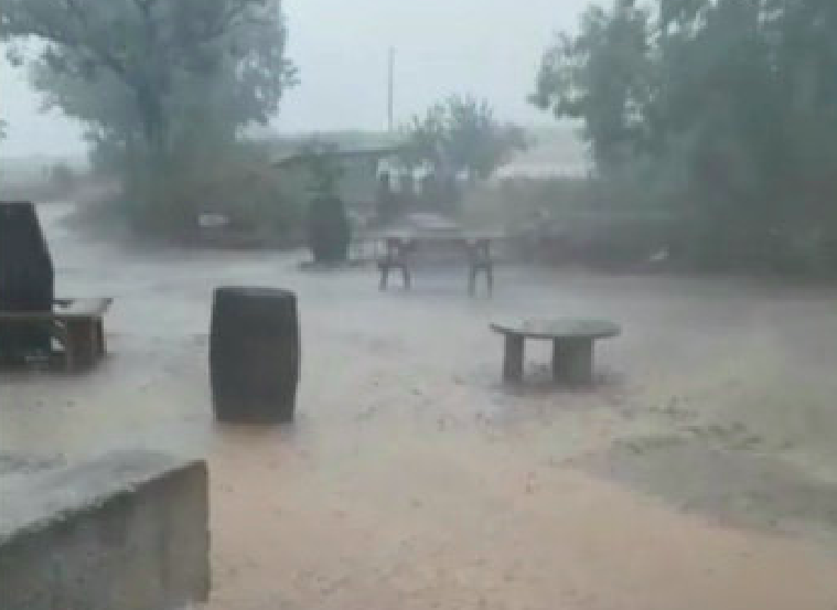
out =
<svg viewBox="0 0 837 610"><path fill-rule="evenodd" d="M29 202L0 202L0 310L52 311L55 276L52 258ZM49 353L43 324L0 322L0 360L18 361Z"/></svg>

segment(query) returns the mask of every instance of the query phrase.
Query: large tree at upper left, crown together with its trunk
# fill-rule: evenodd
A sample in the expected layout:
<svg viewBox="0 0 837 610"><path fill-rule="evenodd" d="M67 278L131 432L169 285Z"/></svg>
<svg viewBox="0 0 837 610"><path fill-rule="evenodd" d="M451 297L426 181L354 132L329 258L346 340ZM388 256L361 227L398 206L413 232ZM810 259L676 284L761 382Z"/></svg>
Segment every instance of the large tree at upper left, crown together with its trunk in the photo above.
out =
<svg viewBox="0 0 837 610"><path fill-rule="evenodd" d="M189 176L235 157L296 83L281 0L0 0L0 40L43 107L85 126L94 165L121 179L117 210L154 233L194 224Z"/></svg>

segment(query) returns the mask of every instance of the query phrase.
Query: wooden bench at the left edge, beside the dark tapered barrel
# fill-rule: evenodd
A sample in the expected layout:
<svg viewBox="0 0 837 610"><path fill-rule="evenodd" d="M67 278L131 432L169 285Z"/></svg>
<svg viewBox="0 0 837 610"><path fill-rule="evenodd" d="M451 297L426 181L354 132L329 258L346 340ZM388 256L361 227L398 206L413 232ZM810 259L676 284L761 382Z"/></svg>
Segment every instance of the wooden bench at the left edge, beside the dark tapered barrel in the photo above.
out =
<svg viewBox="0 0 837 610"><path fill-rule="evenodd" d="M67 371L96 364L107 352L104 318L112 299L56 299L52 311L0 311L0 323L39 323L64 349Z"/></svg>

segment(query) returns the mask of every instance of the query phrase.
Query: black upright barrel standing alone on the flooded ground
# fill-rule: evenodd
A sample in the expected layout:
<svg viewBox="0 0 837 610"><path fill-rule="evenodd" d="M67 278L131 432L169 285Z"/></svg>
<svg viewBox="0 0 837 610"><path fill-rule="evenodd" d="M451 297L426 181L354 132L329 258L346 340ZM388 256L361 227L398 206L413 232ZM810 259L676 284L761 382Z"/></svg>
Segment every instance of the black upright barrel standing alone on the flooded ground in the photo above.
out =
<svg viewBox="0 0 837 610"><path fill-rule="evenodd" d="M215 290L210 333L213 408L219 421L293 419L300 372L297 297L287 290Z"/></svg>

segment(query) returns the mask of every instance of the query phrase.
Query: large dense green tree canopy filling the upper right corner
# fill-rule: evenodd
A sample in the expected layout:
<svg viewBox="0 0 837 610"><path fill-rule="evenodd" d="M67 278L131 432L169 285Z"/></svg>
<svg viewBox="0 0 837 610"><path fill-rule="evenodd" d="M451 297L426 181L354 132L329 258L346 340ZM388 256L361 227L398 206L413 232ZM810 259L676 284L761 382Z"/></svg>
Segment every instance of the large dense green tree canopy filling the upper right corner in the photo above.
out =
<svg viewBox="0 0 837 610"><path fill-rule="evenodd" d="M615 0L547 51L530 99L582 121L601 175L690 207L707 252L837 255L835 32L834 0Z"/></svg>

